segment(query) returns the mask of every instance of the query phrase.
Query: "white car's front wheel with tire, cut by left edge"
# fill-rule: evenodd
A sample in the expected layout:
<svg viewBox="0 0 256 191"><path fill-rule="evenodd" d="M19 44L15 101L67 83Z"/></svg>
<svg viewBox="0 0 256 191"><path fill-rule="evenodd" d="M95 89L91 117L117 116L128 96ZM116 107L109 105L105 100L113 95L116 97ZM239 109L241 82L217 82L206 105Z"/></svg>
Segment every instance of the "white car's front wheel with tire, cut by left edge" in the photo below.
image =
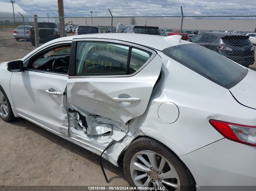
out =
<svg viewBox="0 0 256 191"><path fill-rule="evenodd" d="M16 119L12 111L11 103L2 86L0 86L0 118L6 122L11 122Z"/></svg>

